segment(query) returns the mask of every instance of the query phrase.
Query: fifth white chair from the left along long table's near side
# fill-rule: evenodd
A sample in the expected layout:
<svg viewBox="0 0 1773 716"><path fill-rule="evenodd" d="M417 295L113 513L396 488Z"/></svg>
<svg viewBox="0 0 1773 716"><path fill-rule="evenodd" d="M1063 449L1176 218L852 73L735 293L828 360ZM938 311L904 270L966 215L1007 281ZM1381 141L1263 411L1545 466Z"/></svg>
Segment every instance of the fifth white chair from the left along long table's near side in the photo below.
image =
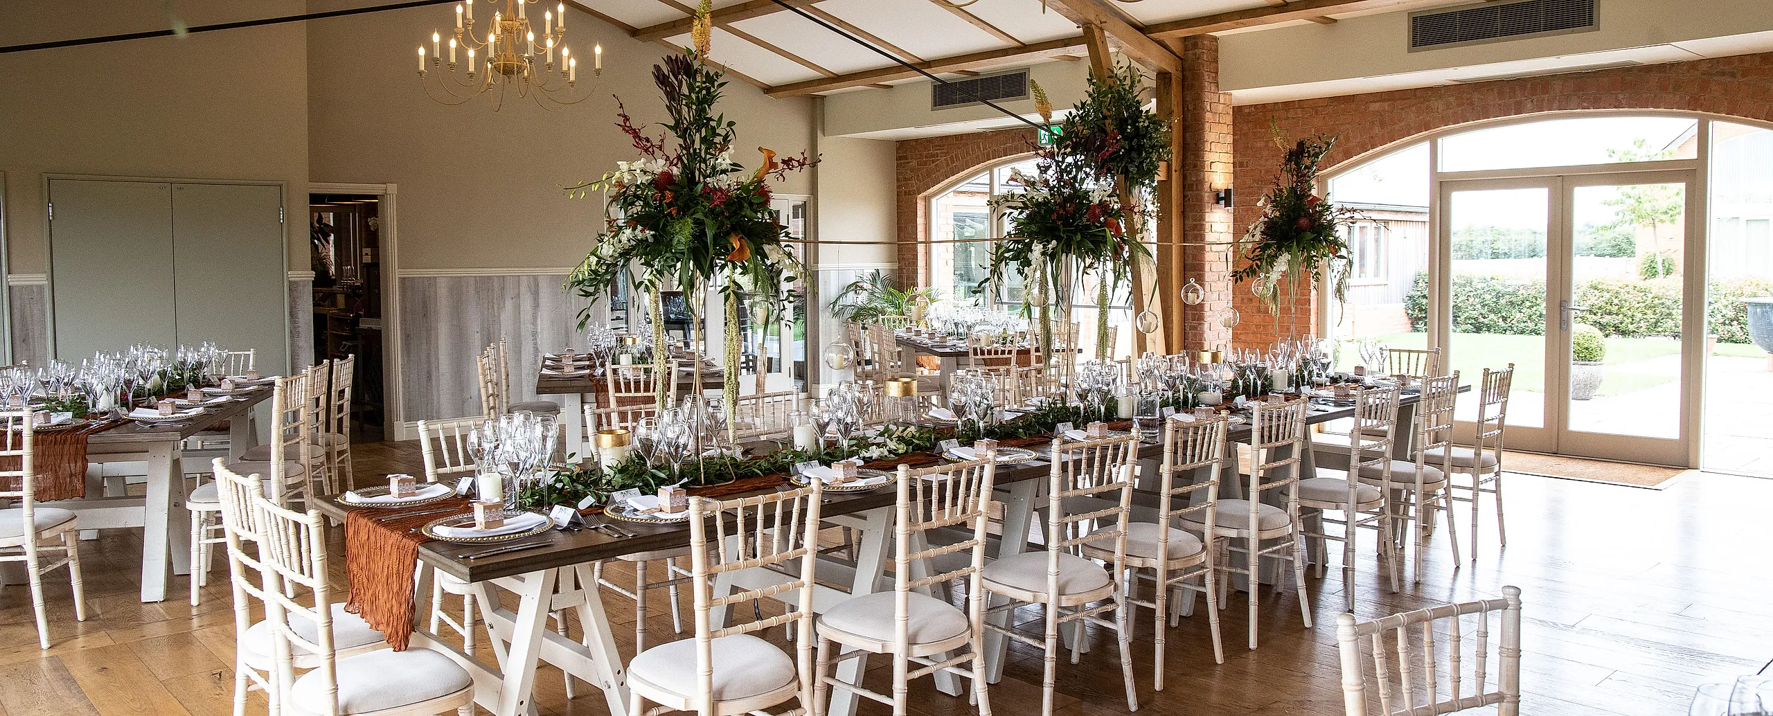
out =
<svg viewBox="0 0 1773 716"><path fill-rule="evenodd" d="M1245 565L1234 567L1227 560L1222 567L1230 574L1243 574L1250 580L1250 649L1255 649L1257 636L1257 601L1261 594L1262 556L1293 564L1293 583L1300 594L1300 615L1305 627L1312 627L1312 606L1305 595L1305 558L1300 551L1300 464L1303 463L1305 441L1305 399L1284 402L1257 402L1250 420L1250 493L1248 500L1220 500L1215 509L1216 525L1213 539L1245 541ZM1278 475L1278 477L1277 477ZM1262 493L1284 491L1280 502L1285 507L1269 505ZM1184 523L1195 532L1206 530L1206 518L1186 516ZM1262 541L1273 541L1262 548ZM1220 581L1220 592L1230 580ZM1275 574L1275 590L1280 590L1280 574ZM1223 595L1220 604L1223 604Z"/></svg>

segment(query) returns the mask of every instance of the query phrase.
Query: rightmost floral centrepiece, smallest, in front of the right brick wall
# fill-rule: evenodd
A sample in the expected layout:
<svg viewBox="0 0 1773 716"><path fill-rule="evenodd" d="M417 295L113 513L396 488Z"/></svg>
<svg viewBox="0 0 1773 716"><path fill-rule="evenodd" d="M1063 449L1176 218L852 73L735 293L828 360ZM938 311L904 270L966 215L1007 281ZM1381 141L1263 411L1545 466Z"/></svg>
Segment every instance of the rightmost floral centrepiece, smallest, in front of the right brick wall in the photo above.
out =
<svg viewBox="0 0 1773 716"><path fill-rule="evenodd" d="M1335 147L1335 136L1312 135L1289 142L1278 124L1271 124L1275 145L1285 151L1275 186L1257 200L1262 216L1238 241L1245 264L1232 273L1238 284L1250 282L1250 291L1280 314L1278 284L1287 278L1287 305L1298 310L1300 278L1312 284L1330 280L1337 301L1347 296L1349 250L1342 229L1362 214L1337 207L1317 195L1317 172L1324 154ZM1291 319L1289 319L1291 323Z"/></svg>

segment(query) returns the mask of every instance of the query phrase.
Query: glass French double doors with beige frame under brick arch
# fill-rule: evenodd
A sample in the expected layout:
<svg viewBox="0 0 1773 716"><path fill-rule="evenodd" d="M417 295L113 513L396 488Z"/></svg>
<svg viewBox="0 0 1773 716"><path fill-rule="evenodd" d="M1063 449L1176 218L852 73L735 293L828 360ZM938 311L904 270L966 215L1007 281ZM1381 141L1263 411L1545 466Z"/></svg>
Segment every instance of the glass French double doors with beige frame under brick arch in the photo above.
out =
<svg viewBox="0 0 1773 716"><path fill-rule="evenodd" d="M1691 170L1440 181L1429 330L1464 385L1514 363L1509 448L1697 464L1693 183ZM1459 397L1466 432L1477 401Z"/></svg>

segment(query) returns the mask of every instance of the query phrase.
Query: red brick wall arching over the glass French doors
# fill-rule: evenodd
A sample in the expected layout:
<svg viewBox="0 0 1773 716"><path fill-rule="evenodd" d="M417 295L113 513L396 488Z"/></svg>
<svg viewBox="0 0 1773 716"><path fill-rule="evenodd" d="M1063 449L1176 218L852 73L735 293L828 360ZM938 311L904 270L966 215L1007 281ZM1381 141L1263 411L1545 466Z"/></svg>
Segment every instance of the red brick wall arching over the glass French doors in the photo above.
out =
<svg viewBox="0 0 1773 716"><path fill-rule="evenodd" d="M1255 200L1280 163L1269 121L1294 138L1337 135L1335 151L1324 158L1328 172L1445 128L1573 110L1686 110L1773 121L1773 53L1238 106L1234 229L1241 234L1259 216ZM1301 292L1298 333L1305 335L1314 331L1316 292ZM1232 296L1243 314L1238 346L1262 347L1287 333L1285 308L1277 323L1246 285Z"/></svg>

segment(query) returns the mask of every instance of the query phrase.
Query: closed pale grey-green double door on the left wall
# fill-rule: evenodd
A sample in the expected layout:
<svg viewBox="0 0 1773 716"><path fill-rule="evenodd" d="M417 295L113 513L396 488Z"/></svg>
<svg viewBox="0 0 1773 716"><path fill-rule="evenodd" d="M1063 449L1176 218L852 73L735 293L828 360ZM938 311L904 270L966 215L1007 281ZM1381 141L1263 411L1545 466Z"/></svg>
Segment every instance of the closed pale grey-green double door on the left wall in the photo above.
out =
<svg viewBox="0 0 1773 716"><path fill-rule="evenodd" d="M51 356L215 340L287 367L282 188L50 179Z"/></svg>

